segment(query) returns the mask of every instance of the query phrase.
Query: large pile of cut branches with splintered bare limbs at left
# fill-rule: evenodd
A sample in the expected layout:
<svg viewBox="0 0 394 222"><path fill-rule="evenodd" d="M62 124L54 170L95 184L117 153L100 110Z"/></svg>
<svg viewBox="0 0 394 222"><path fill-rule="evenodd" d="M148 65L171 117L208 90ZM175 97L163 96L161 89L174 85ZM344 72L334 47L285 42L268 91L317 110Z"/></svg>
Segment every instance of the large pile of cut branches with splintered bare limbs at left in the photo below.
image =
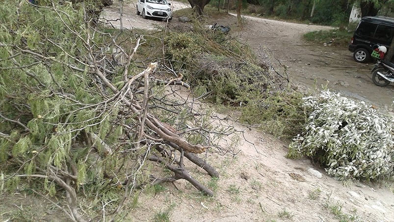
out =
<svg viewBox="0 0 394 222"><path fill-rule="evenodd" d="M231 152L214 141L235 131L212 125L207 109L178 96L189 86L171 65L138 67L143 35L90 27L83 4L24 4L18 14L15 4L0 5L2 191L33 190L49 201L47 194L65 192L66 203L60 198L54 205L73 221L98 212L123 217L131 191L150 184L185 179L213 195L190 176L184 160L218 177L196 154ZM172 173L159 178L149 162ZM80 209L80 198L97 194L102 210L93 210L97 203Z"/></svg>

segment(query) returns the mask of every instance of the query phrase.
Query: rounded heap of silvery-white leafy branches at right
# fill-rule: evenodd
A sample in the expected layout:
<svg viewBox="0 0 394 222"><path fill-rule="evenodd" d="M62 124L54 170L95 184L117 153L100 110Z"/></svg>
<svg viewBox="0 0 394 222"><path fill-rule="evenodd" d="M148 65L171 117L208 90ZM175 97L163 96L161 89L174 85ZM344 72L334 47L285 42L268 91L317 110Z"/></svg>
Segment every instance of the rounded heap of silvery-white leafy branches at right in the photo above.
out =
<svg viewBox="0 0 394 222"><path fill-rule="evenodd" d="M342 180L392 175L394 140L386 116L329 91L304 100L312 112L304 132L289 145L288 157L311 157L328 175Z"/></svg>

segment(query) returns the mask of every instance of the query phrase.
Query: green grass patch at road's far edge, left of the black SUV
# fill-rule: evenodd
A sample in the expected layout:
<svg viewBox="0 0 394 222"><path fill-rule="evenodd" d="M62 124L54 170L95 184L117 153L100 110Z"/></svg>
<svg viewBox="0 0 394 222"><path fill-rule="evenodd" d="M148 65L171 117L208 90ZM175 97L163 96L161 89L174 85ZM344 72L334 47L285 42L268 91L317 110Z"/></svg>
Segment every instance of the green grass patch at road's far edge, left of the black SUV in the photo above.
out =
<svg viewBox="0 0 394 222"><path fill-rule="evenodd" d="M336 28L323 31L312 31L303 35L304 40L316 45L323 45L329 43L333 46L346 47L349 45L350 39L353 37L353 32L348 32L344 28ZM333 40L334 39L334 40Z"/></svg>

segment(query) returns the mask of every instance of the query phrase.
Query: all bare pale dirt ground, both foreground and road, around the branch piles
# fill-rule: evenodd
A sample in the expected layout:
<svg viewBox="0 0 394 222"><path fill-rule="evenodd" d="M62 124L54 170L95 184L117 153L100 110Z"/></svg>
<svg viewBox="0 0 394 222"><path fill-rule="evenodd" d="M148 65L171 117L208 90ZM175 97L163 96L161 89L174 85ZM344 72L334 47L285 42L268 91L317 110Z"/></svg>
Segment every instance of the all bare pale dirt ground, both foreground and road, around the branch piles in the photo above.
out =
<svg viewBox="0 0 394 222"><path fill-rule="evenodd" d="M158 28L165 23L144 20L135 15L135 6L125 1L124 26ZM177 8L189 7L173 2ZM117 5L103 16L118 16ZM238 36L257 53L266 50L278 70L288 74L304 90L327 85L332 91L364 100L382 112L392 113L394 86L379 87L372 83L373 64L353 61L347 48L310 45L303 33L330 27L293 24L244 17L245 26L232 35ZM217 22L236 27L236 17L228 15ZM181 24L174 14L173 24ZM207 24L209 25L209 24ZM116 26L116 24L115 24ZM119 24L118 24L119 26ZM279 65L279 60L284 67ZM324 174L324 169L307 159L287 159L286 141L233 123L245 140L236 157L208 154L207 160L220 172L218 181L207 180L200 169L190 169L194 177L205 180L215 191L214 197L198 194L190 184L176 181L158 194L141 194L138 207L132 209L130 221L153 221L169 216L170 221L243 222L243 221L394 221L393 184L342 183ZM241 137L242 138L242 137ZM322 175L314 173L311 168ZM204 179L205 178L205 179Z"/></svg>

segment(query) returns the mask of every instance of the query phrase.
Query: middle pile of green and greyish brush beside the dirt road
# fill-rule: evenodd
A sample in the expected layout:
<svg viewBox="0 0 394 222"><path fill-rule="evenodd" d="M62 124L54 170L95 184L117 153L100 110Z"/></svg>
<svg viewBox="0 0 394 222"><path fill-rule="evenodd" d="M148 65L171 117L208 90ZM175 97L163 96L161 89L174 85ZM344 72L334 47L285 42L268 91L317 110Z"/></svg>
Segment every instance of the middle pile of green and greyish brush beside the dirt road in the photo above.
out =
<svg viewBox="0 0 394 222"><path fill-rule="evenodd" d="M230 35L198 24L165 37L165 55L197 96L241 111L240 120L277 137L295 136L305 122L302 94L269 61Z"/></svg>

